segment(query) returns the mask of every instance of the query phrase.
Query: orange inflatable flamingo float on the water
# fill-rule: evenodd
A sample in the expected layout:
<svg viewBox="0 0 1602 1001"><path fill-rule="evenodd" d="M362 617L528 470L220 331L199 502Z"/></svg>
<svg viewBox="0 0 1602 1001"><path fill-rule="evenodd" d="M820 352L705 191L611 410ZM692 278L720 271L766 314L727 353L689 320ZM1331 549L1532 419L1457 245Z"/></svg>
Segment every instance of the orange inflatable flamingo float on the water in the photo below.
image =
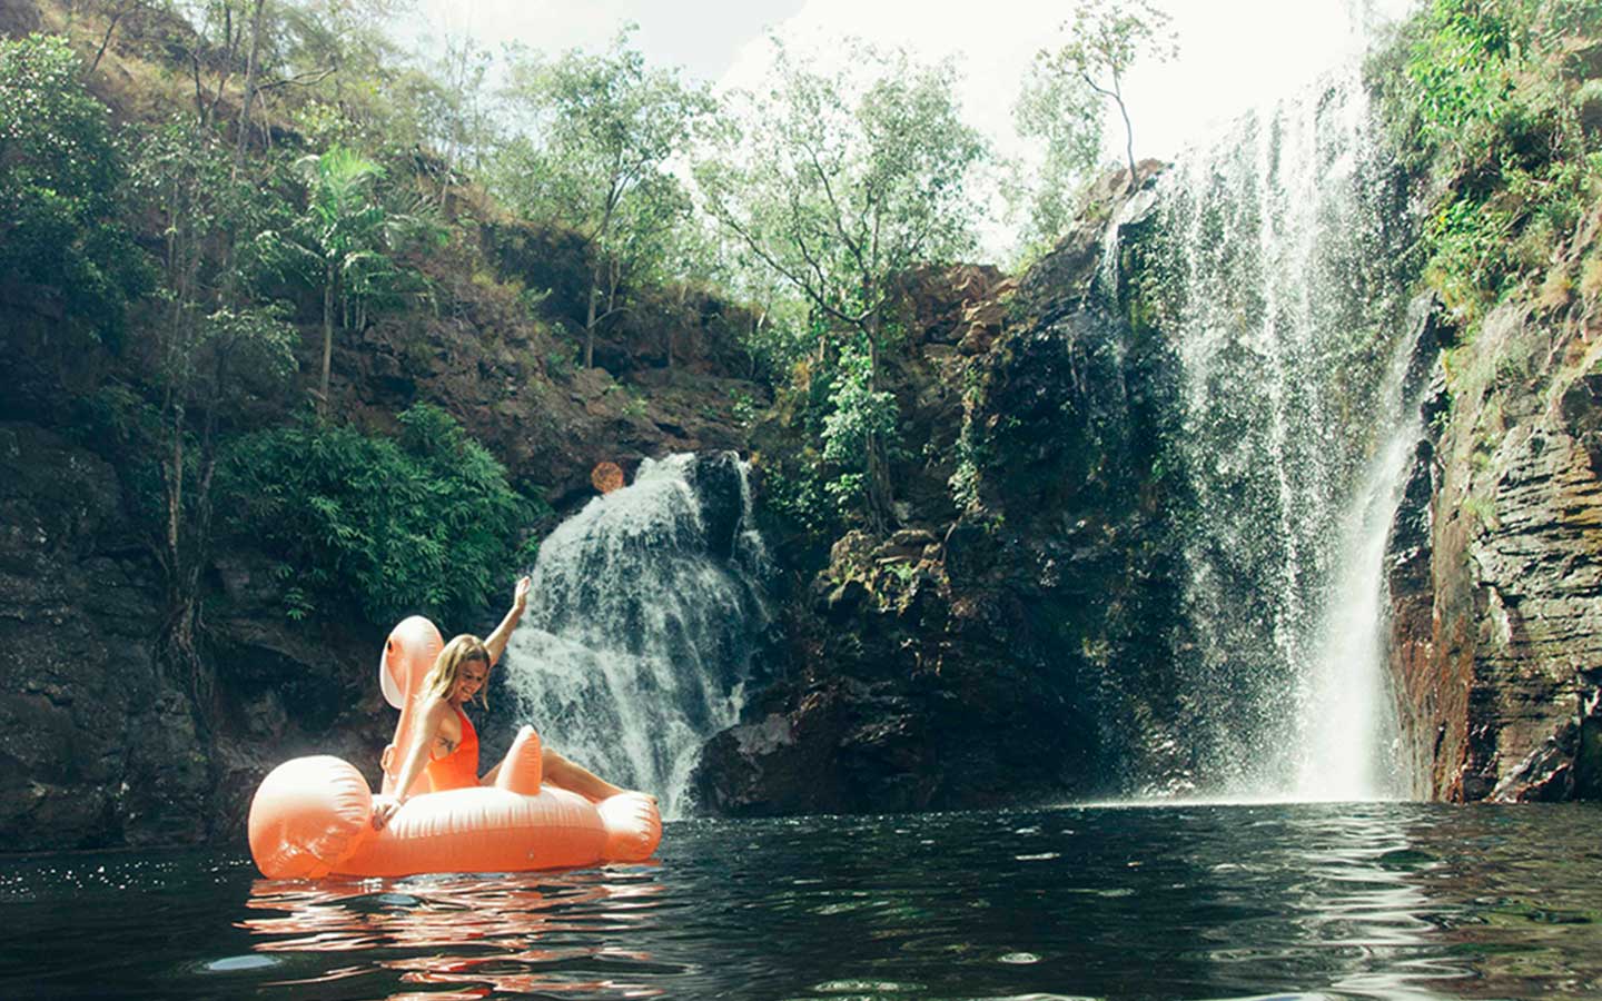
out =
<svg viewBox="0 0 1602 1001"><path fill-rule="evenodd" d="M384 793L405 761L423 676L441 650L439 629L421 617L402 621L384 644L380 684L400 710L384 750ZM426 770L412 798L373 830L373 794L354 766L332 756L296 758L272 769L250 804L250 854L269 879L506 873L598 862L642 862L662 841L657 804L639 793L593 802L540 783L540 738L517 734L493 786L428 791ZM426 794L420 794L426 793Z"/></svg>

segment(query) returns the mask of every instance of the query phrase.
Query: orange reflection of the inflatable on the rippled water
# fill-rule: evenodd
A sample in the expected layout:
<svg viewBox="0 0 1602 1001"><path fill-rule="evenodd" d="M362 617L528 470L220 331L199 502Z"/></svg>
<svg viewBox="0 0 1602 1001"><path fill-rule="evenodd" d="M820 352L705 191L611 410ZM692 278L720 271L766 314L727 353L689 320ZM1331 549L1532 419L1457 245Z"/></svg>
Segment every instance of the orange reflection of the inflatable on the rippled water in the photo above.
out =
<svg viewBox="0 0 1602 1001"><path fill-rule="evenodd" d="M312 884L258 879L245 907L280 915L247 918L237 927L261 939L255 942L261 953L372 956L269 987L399 974L407 985L471 988L417 995L431 1001L489 991L652 998L662 988L639 977L681 971L626 943L663 903L660 895L654 866Z"/></svg>

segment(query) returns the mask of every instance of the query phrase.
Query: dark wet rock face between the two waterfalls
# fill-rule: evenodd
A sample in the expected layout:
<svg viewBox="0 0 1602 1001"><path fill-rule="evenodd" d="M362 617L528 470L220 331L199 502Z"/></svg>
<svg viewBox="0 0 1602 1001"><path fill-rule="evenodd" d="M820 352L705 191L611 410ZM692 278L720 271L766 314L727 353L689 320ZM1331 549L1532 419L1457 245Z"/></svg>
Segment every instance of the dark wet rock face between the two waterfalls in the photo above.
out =
<svg viewBox="0 0 1602 1001"><path fill-rule="evenodd" d="M1085 298L1109 218L1046 279L953 269L940 293L923 275L889 384L931 458L892 477L900 527L844 535L795 589L788 669L706 746L703 809L987 807L1176 770L1149 767L1174 746L1157 722L1176 594L1153 477L1173 370ZM960 509L964 434L982 447Z"/></svg>

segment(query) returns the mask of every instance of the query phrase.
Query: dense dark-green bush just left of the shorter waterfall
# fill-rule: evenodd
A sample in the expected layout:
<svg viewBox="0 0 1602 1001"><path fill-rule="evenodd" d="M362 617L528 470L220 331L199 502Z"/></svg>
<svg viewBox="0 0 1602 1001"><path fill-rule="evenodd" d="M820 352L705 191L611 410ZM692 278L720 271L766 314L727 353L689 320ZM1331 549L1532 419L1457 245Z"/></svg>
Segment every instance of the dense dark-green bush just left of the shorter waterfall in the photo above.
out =
<svg viewBox="0 0 1602 1001"><path fill-rule="evenodd" d="M397 439L303 421L231 448L229 529L293 567L292 617L354 597L373 623L463 618L529 557L516 541L538 511L506 469L437 407L399 420Z"/></svg>

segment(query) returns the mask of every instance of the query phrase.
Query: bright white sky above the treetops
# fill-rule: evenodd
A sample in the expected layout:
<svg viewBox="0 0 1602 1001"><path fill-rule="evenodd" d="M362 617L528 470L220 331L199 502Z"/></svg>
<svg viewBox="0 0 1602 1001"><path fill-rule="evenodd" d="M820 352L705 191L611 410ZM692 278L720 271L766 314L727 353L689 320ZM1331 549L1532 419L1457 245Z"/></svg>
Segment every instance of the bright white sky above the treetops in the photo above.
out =
<svg viewBox="0 0 1602 1001"><path fill-rule="evenodd" d="M1362 51L1368 27L1415 0L1157 0L1173 14L1179 59L1137 64L1126 82L1136 157L1169 159L1254 104L1286 96ZM755 86L769 62L767 34L827 66L847 35L923 59L953 56L969 123L996 151L1027 157L1012 133L1012 101L1040 48L1062 43L1064 0L420 0L429 27L471 34L498 50L519 40L549 53L601 48L620 24L650 62L682 66L719 88ZM429 30L431 29L431 30ZM1109 157L1121 130L1109 122ZM987 243L990 240L987 239Z"/></svg>

